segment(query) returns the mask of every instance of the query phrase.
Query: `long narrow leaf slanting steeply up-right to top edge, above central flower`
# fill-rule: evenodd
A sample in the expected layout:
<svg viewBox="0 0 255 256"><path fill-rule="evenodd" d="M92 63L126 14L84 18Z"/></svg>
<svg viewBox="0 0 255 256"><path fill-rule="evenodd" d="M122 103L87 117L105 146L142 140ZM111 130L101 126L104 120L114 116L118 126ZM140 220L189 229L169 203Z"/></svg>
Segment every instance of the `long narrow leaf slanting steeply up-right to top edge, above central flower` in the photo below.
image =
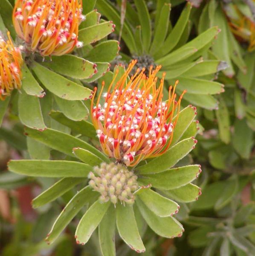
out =
<svg viewBox="0 0 255 256"><path fill-rule="evenodd" d="M161 58L165 54L168 54L168 52L170 52L176 46L176 44L178 43L178 41L180 40L183 34L186 24L188 23L190 11L191 11L191 4L187 3L176 25L174 26L174 29L168 35L162 47L160 47L160 49L156 52L154 56L156 59Z"/></svg>

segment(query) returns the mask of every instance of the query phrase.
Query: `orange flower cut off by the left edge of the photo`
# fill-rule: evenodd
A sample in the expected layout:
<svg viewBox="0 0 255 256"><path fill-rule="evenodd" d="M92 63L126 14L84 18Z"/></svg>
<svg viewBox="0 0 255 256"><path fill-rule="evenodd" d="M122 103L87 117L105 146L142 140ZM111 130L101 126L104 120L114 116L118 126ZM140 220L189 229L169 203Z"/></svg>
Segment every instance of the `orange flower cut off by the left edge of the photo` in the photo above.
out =
<svg viewBox="0 0 255 256"><path fill-rule="evenodd" d="M13 89L21 86L22 73L20 71L23 64L20 48L14 47L10 33L5 41L0 36L0 99L4 100Z"/></svg>

